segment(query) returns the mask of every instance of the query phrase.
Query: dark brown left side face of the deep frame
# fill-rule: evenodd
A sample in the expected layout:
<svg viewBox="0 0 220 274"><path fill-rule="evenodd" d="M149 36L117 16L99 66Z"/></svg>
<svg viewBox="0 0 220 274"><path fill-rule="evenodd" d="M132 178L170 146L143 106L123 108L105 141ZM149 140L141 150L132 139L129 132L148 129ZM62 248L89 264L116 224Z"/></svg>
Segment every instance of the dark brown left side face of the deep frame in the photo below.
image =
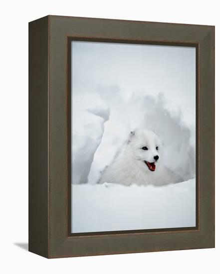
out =
<svg viewBox="0 0 220 274"><path fill-rule="evenodd" d="M48 17L29 23L29 244L48 257Z"/></svg>

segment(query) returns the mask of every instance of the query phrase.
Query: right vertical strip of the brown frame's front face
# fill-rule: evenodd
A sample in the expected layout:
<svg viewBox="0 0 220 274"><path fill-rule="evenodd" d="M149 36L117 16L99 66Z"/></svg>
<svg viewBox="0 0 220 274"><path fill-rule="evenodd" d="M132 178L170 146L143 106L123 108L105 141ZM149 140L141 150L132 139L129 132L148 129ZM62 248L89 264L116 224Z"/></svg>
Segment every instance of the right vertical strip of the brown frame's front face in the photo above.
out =
<svg viewBox="0 0 220 274"><path fill-rule="evenodd" d="M215 247L215 27L200 44L200 230ZM209 161L207 161L209 159Z"/></svg>

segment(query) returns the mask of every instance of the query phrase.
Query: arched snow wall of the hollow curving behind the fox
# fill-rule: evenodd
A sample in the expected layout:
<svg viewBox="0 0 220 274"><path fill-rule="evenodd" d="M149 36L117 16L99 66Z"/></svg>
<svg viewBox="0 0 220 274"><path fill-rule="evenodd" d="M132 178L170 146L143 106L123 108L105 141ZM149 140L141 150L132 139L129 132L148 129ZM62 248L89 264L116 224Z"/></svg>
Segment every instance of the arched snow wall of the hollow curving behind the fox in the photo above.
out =
<svg viewBox="0 0 220 274"><path fill-rule="evenodd" d="M125 99L120 89L100 92L110 108L110 118L105 123L102 141L98 146L88 175L88 182L95 184L106 166L128 138L130 131L148 129L156 132L164 143L165 165L179 175L182 181L195 177L195 128L184 121L182 109L166 102L163 94L157 97L146 92L134 92ZM117 98L117 100L115 99Z"/></svg>

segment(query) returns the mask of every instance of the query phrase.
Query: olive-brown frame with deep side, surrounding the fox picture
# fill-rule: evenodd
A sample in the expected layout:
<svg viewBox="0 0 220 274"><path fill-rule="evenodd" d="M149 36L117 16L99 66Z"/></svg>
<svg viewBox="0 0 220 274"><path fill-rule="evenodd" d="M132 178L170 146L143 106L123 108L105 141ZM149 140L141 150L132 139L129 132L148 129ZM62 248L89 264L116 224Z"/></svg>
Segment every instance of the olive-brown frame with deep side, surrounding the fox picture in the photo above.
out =
<svg viewBox="0 0 220 274"><path fill-rule="evenodd" d="M196 47L196 227L70 233L71 40ZM53 15L29 23L29 251L59 258L215 247L214 57L214 26Z"/></svg>

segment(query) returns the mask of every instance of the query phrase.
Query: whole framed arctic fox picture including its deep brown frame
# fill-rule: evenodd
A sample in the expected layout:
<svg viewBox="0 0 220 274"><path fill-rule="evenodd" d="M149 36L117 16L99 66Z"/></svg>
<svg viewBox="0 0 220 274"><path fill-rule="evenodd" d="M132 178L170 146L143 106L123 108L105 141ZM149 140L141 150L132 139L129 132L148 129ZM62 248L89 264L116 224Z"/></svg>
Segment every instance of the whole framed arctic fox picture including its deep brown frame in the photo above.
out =
<svg viewBox="0 0 220 274"><path fill-rule="evenodd" d="M215 27L29 23L29 251L215 247Z"/></svg>

